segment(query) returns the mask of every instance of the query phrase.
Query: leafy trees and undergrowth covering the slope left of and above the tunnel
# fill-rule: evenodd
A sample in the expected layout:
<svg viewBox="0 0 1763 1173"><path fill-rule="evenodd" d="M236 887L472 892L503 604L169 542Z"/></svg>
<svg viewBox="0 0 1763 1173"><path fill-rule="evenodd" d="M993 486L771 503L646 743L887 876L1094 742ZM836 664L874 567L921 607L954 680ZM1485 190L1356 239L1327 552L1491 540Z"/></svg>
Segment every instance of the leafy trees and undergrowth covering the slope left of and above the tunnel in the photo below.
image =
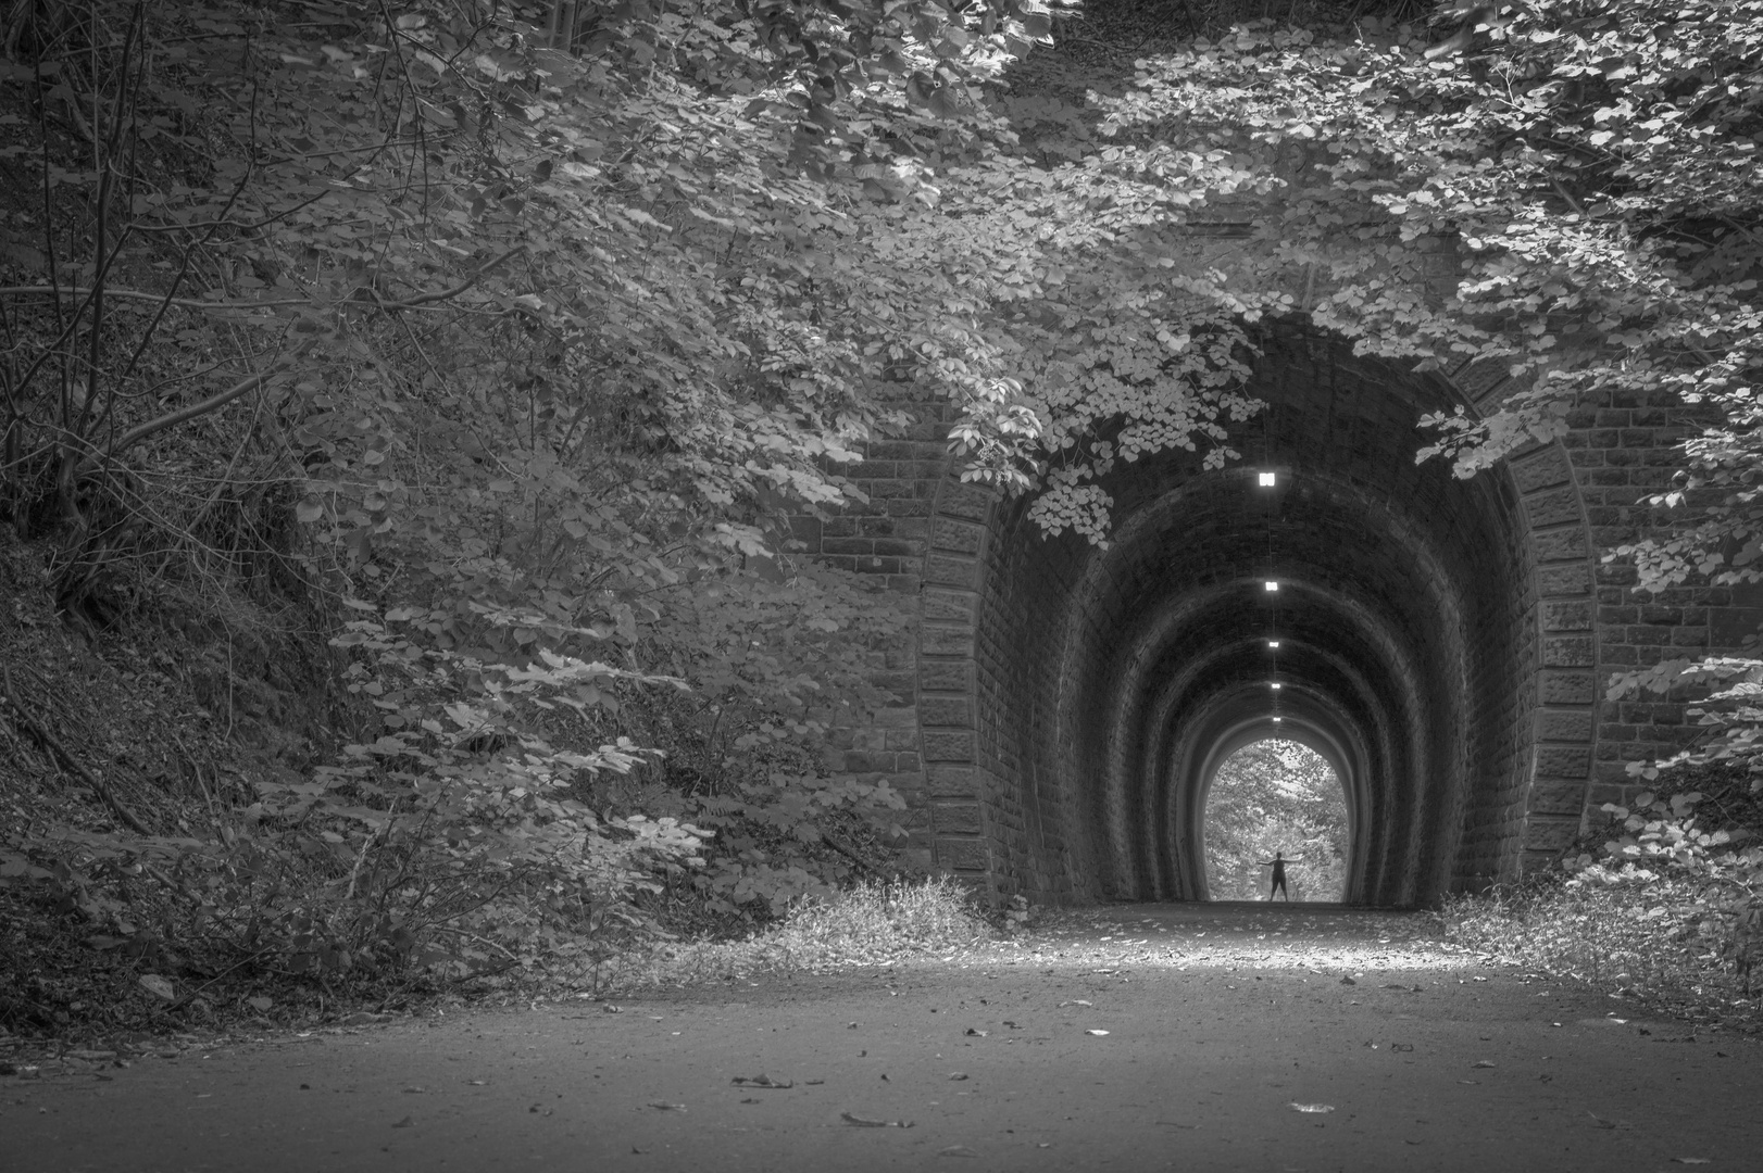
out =
<svg viewBox="0 0 1763 1173"><path fill-rule="evenodd" d="M1758 574L1758 4L0 19L12 1029L592 969L890 874L910 812L825 750L910 599L790 518L869 509L839 470L917 405L1100 542L1098 477L1232 460L1308 317L1523 377L1432 421L1462 476L1599 396L1730 421L1613 557ZM1197 218L1257 248L1192 269ZM1758 662L1624 687L1685 671L1747 763Z"/></svg>

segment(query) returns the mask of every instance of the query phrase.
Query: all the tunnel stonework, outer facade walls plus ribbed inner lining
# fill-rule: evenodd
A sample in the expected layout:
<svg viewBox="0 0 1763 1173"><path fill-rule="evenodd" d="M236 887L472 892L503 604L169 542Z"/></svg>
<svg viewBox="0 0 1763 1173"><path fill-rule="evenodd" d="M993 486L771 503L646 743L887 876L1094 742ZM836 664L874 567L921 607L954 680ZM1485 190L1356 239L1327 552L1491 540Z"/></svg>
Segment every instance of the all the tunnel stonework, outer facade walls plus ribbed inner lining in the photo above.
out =
<svg viewBox="0 0 1763 1173"><path fill-rule="evenodd" d="M1643 498L1685 426L1666 409L1581 409L1560 442L1470 481L1414 465L1423 410L1506 389L1497 370L1414 375L1278 335L1245 465L1114 474L1107 551L1044 539L1023 502L961 483L947 409L919 405L908 437L848 470L867 505L795 527L816 557L919 597L910 652L876 675L897 705L850 734L844 768L910 794L920 861L1000 896L1204 896L1211 771L1275 733L1343 778L1354 900L1425 904L1553 858L1588 808L1633 793L1627 761L1692 733L1684 703L1603 699L1610 675L1737 646L1763 599L1640 597L1597 560L1657 532ZM1257 497L1252 467L1282 488ZM1268 574L1278 611L1257 594Z"/></svg>

